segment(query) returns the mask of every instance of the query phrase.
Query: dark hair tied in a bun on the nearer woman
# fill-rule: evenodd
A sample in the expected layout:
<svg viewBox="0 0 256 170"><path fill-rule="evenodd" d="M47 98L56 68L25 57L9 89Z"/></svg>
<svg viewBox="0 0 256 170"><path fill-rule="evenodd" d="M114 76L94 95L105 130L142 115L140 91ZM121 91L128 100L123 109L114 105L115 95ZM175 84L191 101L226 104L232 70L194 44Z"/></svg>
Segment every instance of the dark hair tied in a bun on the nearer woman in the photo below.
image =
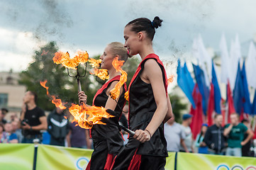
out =
<svg viewBox="0 0 256 170"><path fill-rule="evenodd" d="M130 21L126 26L132 26L130 29L135 33L139 33L140 31L145 31L150 40L153 40L155 35L155 28L162 26L162 19L158 16L155 16L154 20L151 22L148 18L137 18L133 21Z"/></svg>

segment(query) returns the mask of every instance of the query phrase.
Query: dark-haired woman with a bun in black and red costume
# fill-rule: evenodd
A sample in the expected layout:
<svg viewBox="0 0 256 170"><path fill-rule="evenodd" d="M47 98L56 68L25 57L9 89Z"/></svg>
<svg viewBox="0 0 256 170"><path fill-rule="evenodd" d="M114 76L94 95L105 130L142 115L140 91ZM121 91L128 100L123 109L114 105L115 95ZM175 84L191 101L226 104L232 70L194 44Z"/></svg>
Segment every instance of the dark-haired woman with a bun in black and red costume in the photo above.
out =
<svg viewBox="0 0 256 170"><path fill-rule="evenodd" d="M121 149L111 169L165 169L168 157L164 123L172 116L167 95L165 68L152 48L155 28L162 20L155 17L130 21L124 28L125 47L130 55L139 54L142 62L129 86L129 128L135 131Z"/></svg>

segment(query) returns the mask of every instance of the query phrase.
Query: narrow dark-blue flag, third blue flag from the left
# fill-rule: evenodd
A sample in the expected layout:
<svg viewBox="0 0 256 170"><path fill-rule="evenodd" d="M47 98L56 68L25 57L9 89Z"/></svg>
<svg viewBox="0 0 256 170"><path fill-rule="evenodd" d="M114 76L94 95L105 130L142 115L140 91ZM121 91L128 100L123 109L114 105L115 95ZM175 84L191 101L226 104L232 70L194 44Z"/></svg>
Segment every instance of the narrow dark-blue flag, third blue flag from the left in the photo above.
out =
<svg viewBox="0 0 256 170"><path fill-rule="evenodd" d="M214 87L214 108L216 113L221 114L221 90L220 90L220 87L218 86L218 79L216 77L213 61L211 62L212 62L211 82L213 83L213 87Z"/></svg>

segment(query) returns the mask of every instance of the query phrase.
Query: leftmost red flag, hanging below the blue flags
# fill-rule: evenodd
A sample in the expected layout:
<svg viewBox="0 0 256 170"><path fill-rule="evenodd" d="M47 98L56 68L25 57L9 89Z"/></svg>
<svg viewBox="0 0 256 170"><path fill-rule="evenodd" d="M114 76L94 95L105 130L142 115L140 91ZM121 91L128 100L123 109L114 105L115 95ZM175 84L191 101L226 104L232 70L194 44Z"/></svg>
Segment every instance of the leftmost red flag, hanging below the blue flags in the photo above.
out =
<svg viewBox="0 0 256 170"><path fill-rule="evenodd" d="M202 106L202 96L199 91L199 86L196 84L192 93L196 108L191 106L190 114L193 115L192 122L190 125L194 140L196 140L196 135L201 132L201 125L203 124L203 106Z"/></svg>

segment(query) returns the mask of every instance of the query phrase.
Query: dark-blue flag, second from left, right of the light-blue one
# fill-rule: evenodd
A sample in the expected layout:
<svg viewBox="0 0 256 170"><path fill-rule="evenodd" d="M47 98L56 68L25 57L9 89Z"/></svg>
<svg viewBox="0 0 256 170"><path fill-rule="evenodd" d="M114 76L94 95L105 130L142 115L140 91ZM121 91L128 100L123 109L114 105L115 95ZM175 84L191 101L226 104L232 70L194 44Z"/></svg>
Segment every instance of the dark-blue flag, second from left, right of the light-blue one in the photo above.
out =
<svg viewBox="0 0 256 170"><path fill-rule="evenodd" d="M204 111L204 114L206 115L210 91L209 91L208 87L206 86L206 80L204 78L203 70L200 69L199 66L196 66L194 64L193 64L193 68L194 68L194 74L196 77L196 82L199 86L199 91L202 96L203 111Z"/></svg>

